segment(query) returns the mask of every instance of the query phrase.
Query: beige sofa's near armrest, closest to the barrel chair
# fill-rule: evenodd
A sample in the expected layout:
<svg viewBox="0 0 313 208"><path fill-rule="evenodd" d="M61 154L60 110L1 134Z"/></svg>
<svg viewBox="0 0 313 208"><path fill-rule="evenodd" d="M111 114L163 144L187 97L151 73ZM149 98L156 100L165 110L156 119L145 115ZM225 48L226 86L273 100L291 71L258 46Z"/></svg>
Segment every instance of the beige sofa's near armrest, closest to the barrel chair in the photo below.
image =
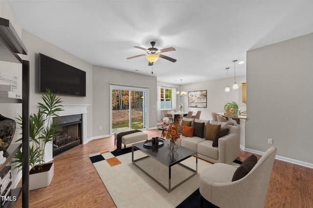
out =
<svg viewBox="0 0 313 208"><path fill-rule="evenodd" d="M231 164L240 155L239 134L229 133L219 138L219 162Z"/></svg>

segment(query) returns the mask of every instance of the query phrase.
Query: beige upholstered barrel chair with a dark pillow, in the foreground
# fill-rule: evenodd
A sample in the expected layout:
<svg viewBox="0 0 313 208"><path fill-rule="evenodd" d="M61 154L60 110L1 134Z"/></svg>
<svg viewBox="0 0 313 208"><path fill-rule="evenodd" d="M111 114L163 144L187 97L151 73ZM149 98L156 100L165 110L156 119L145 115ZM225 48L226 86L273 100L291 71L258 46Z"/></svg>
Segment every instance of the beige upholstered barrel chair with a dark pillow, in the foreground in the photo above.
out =
<svg viewBox="0 0 313 208"><path fill-rule="evenodd" d="M220 208L264 208L276 147L270 147L243 178L233 181L237 170L216 163L200 174L201 207L203 200Z"/></svg>

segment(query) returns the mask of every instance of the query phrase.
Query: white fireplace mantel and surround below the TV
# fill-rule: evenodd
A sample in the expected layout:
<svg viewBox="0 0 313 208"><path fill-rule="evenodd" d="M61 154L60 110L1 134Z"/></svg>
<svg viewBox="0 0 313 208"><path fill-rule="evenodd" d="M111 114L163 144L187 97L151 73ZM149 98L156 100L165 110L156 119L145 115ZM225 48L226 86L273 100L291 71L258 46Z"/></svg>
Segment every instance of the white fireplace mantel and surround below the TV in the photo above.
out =
<svg viewBox="0 0 313 208"><path fill-rule="evenodd" d="M87 141L87 108L91 104L62 104L63 111L59 112L59 116L82 114L82 143ZM47 143L45 146L45 162L53 160L53 144Z"/></svg>

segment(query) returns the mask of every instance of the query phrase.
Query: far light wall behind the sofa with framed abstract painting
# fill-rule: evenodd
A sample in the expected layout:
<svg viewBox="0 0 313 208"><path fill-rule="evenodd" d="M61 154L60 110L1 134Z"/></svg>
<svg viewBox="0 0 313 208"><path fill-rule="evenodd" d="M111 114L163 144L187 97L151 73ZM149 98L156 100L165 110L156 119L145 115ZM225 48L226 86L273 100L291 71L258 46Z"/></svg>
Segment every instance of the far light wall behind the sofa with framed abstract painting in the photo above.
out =
<svg viewBox="0 0 313 208"><path fill-rule="evenodd" d="M237 84L239 86L238 90L232 89L232 84L234 82L234 77L224 78L224 79L216 79L205 82L199 82L194 84L185 84L182 85L182 91L190 92L190 91L199 91L206 90L207 91L207 107L206 108L188 108L188 94L180 97L179 102L183 104L183 110L187 111L201 111L200 119L209 120L211 119L212 112L221 113L224 112L224 105L227 102L236 102L239 108L245 107L245 104L242 102L242 82L246 82L246 76L236 76ZM225 87L229 85L230 92L225 92Z"/></svg>

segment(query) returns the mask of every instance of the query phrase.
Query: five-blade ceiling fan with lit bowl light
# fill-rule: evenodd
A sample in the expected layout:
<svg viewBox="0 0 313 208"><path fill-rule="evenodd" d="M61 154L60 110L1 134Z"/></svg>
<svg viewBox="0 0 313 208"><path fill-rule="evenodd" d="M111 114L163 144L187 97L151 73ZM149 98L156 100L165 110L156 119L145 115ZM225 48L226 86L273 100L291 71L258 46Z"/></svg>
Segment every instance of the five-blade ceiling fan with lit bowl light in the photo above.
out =
<svg viewBox="0 0 313 208"><path fill-rule="evenodd" d="M137 56L134 56L134 57L128 57L126 59L146 56L146 58L149 61L149 64L148 64L149 66L152 66L153 63L155 63L159 57L160 58L164 58L164 59L169 60L169 61L172 61L172 62L176 62L176 59L171 58L171 57L167 57L167 56L164 56L164 55L161 54L161 53L164 53L164 52L176 51L175 48L170 47L170 48L163 48L163 49L158 50L157 48L154 47L156 45L155 41L151 41L150 44L152 45L152 48L148 48L148 49L142 48L140 46L134 46L135 48L139 48L141 50L146 51L147 55L146 54L141 54L141 55L137 55Z"/></svg>

